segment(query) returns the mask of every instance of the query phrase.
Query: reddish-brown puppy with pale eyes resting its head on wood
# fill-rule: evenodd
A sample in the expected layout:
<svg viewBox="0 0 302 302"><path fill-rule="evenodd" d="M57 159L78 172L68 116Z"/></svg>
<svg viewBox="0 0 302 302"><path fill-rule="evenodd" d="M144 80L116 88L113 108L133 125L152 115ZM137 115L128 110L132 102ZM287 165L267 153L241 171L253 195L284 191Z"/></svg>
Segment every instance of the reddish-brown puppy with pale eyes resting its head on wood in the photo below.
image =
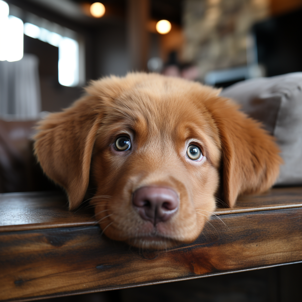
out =
<svg viewBox="0 0 302 302"><path fill-rule="evenodd" d="M130 73L93 81L86 92L40 122L35 153L70 209L92 175L96 217L111 239L149 249L192 242L217 194L233 207L239 194L265 191L278 176L274 139L218 90Z"/></svg>

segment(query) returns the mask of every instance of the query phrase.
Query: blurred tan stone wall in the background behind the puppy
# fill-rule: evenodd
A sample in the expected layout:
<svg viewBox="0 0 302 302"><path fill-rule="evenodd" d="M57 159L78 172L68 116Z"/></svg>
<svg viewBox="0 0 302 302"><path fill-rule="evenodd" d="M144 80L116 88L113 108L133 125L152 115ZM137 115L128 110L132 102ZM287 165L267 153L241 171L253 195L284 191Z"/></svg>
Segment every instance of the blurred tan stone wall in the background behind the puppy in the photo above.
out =
<svg viewBox="0 0 302 302"><path fill-rule="evenodd" d="M208 71L246 65L252 25L269 14L269 0L185 0L183 61Z"/></svg>

